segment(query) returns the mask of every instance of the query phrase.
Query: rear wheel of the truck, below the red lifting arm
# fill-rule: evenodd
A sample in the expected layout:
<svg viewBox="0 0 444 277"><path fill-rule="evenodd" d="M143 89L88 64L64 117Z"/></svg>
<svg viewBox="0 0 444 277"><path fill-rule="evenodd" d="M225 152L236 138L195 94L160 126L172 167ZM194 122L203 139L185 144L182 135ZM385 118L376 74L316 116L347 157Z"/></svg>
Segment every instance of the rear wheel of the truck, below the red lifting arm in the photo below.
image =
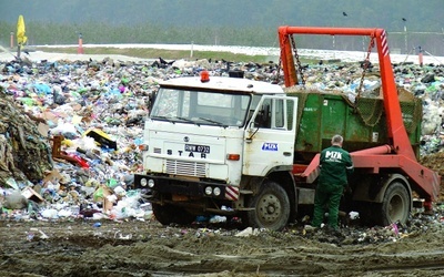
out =
<svg viewBox="0 0 444 277"><path fill-rule="evenodd" d="M381 204L380 224L383 226L397 222L405 224L410 215L410 203L408 191L402 183L393 182L390 184Z"/></svg>

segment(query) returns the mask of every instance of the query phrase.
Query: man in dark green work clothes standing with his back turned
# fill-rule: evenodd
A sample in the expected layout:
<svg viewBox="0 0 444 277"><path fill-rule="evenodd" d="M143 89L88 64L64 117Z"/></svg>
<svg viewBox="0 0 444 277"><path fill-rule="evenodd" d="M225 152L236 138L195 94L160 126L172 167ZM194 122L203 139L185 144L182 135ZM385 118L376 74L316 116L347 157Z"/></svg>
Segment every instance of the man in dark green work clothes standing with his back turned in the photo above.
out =
<svg viewBox="0 0 444 277"><path fill-rule="evenodd" d="M353 172L352 157L347 151L342 148L343 141L341 135L334 135L332 146L321 152L321 172L314 198L312 228L321 227L325 206L329 206L327 229L337 232L341 197L349 185L347 176Z"/></svg>

